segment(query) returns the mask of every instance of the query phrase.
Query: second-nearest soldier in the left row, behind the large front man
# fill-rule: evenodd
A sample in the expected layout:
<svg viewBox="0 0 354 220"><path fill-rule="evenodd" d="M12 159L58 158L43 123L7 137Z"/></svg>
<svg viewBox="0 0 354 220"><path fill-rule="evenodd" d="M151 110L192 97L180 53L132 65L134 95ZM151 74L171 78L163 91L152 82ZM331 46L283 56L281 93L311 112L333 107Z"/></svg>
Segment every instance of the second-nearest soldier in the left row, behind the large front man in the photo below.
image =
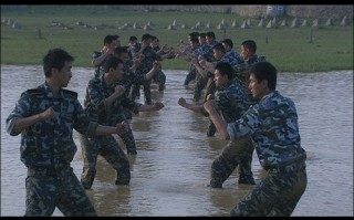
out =
<svg viewBox="0 0 354 220"><path fill-rule="evenodd" d="M158 64L155 67L158 69ZM135 142L132 128L128 126L122 106L133 113L159 111L164 105L142 105L132 101L125 93L124 86L118 84L124 74L124 62L116 56L110 56L105 65L105 74L88 82L84 107L93 122L103 125L124 123L128 127L129 137L125 142ZM81 184L91 189L96 175L97 156L105 158L116 170L116 185L128 185L131 181L129 161L113 135L88 137L80 135L84 167ZM135 147L135 143L134 147ZM127 146L131 146L128 144Z"/></svg>

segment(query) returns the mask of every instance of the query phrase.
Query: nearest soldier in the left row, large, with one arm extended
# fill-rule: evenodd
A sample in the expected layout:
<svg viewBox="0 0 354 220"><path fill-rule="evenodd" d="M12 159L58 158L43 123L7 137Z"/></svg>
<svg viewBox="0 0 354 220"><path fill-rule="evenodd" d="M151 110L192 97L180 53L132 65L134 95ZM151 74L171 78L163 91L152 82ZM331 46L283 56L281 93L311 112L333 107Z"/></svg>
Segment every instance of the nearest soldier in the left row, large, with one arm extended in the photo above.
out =
<svg viewBox="0 0 354 220"><path fill-rule="evenodd" d="M22 93L7 118L8 134L21 134L21 161L28 168L25 216L52 216L55 208L64 216L97 216L71 167L77 149L73 129L88 137L127 129L91 122L77 94L63 88L73 60L66 51L50 50L43 59L45 82Z"/></svg>

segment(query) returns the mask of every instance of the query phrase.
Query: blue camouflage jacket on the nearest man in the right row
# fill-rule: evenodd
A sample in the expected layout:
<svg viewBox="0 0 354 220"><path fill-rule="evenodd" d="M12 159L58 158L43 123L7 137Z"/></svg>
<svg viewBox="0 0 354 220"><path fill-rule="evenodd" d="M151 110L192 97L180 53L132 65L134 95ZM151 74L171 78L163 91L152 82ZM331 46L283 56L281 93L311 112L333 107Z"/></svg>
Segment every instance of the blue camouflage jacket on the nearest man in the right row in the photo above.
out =
<svg viewBox="0 0 354 220"><path fill-rule="evenodd" d="M230 139L250 136L261 166L268 170L306 157L301 147L295 104L271 91L244 115L228 124Z"/></svg>

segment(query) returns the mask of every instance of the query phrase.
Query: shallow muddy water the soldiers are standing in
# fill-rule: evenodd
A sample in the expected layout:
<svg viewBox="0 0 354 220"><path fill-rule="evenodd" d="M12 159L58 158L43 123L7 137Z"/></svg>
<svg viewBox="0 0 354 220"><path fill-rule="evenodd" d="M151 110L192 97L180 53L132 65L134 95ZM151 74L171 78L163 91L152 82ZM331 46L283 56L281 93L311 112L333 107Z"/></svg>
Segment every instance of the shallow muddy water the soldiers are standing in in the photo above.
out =
<svg viewBox="0 0 354 220"><path fill-rule="evenodd" d="M25 167L20 161L20 136L6 133L6 117L20 93L44 82L41 66L1 66L1 216L23 216ZM208 118L177 104L192 102L183 85L186 71L165 71L166 91L153 86L153 98L164 101L160 112L139 113L131 121L138 154L129 156L132 181L115 186L113 168L101 157L93 190L87 191L100 216L229 216L251 189L238 186L237 174L222 189L207 187L210 165L227 142L207 137ZM69 88L83 103L92 69L73 69ZM292 216L353 216L353 71L281 73L278 90L298 107L302 145L308 151L309 185ZM142 95L138 102L143 102ZM121 139L117 137L121 143ZM72 163L82 170L81 148ZM259 181L256 154L252 169ZM55 210L54 216L62 216Z"/></svg>

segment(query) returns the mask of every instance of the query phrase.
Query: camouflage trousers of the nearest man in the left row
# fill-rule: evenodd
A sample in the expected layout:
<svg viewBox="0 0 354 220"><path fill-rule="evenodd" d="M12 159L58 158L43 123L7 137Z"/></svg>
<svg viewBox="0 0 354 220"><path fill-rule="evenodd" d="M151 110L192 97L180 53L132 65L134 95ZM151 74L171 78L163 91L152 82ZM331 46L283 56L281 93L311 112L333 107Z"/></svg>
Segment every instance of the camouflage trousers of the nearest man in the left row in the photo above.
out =
<svg viewBox="0 0 354 220"><path fill-rule="evenodd" d="M97 216L70 166L60 175L54 168L29 168L25 178L25 216L52 216L55 207L65 217Z"/></svg>

